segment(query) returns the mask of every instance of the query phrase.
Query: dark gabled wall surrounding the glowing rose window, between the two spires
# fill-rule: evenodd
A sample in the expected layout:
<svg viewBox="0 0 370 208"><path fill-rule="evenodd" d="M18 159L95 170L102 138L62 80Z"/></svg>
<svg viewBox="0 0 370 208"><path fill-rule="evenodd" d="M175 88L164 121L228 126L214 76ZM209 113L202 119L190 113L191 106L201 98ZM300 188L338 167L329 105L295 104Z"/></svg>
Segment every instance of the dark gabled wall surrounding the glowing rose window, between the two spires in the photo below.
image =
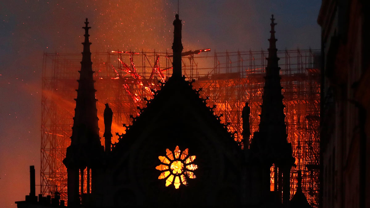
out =
<svg viewBox="0 0 370 208"><path fill-rule="evenodd" d="M171 175L164 174L166 170L158 170L161 164L168 165L166 168L170 170L172 162L180 160L169 158L167 163L159 160L176 148L188 151L186 158L194 155L194 163L189 164L196 165L194 177L186 175L186 184L177 187L175 179L167 184ZM225 192L235 192L233 196L236 196L239 150L232 134L213 115L205 100L199 98L192 84L184 78L170 78L112 149L110 168L116 178L114 189L144 196L145 203L191 199L194 203L212 204ZM182 160L184 166L186 158ZM170 171L175 170L171 167ZM162 180L161 174L164 174ZM173 195L171 199L169 194Z"/></svg>

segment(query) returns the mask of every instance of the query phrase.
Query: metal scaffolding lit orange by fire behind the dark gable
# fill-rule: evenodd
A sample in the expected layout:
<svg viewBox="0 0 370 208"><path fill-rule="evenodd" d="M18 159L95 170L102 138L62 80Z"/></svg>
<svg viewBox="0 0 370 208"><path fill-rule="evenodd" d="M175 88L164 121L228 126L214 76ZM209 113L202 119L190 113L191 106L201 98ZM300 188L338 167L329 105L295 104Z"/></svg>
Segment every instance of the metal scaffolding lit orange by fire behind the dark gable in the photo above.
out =
<svg viewBox="0 0 370 208"><path fill-rule="evenodd" d="M297 167L292 168L291 196L295 193L297 170L302 171L302 189L309 203L318 207L319 197L319 50L278 51L283 86L288 142L292 143ZM114 113L112 132L124 132L129 115L137 115L137 106L145 105L158 80L172 74L169 53L110 51L92 53L95 89L98 99L99 126L104 127L104 104ZM250 140L258 131L260 105L264 85L267 51L237 51L191 54L182 58L182 73L196 80L195 88L208 96L207 105L216 105L215 114L223 114L222 122L230 123L229 131L237 131L242 141L241 112L250 106ZM78 88L81 54L44 53L41 110L41 194L61 193L67 196L67 170L63 164L70 145L74 108ZM101 143L104 145L100 130ZM117 137L118 138L118 137ZM117 142L117 138L112 138ZM248 143L245 143L247 148ZM273 172L273 171L272 171ZM273 174L271 175L273 187Z"/></svg>

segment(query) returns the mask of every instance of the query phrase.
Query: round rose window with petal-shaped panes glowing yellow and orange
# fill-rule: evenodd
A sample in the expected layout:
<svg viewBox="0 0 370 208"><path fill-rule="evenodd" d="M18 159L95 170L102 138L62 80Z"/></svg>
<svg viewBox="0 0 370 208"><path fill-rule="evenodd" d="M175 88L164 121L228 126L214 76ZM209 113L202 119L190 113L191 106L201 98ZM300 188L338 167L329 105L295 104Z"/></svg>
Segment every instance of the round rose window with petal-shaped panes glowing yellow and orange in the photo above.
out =
<svg viewBox="0 0 370 208"><path fill-rule="evenodd" d="M155 169L162 171L158 179L165 179L166 186L173 183L178 189L181 184L188 184L187 179L196 178L193 172L198 168L197 165L193 164L195 155L189 156L188 152L188 148L181 152L179 146L176 146L174 152L166 149L166 156L158 157L162 164Z"/></svg>

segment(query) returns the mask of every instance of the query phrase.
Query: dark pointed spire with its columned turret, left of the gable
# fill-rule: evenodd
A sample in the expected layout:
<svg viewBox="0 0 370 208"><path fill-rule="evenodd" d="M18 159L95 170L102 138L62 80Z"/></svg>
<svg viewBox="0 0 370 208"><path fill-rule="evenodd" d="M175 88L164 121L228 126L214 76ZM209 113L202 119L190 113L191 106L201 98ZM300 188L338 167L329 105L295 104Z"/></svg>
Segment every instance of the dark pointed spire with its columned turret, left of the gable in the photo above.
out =
<svg viewBox="0 0 370 208"><path fill-rule="evenodd" d="M67 167L68 177L68 207L78 207L81 204L80 196L83 197L84 184L87 184L87 193L90 193L90 168L97 166L103 148L100 144L98 116L95 98L94 80L92 74L92 62L89 42L88 21L85 22L85 41L82 43L80 79L76 101L75 115L71 145L67 148L67 154L63 163ZM84 178L84 170L87 168L87 178ZM79 179L81 178L81 180ZM94 185L94 181L91 182Z"/></svg>

